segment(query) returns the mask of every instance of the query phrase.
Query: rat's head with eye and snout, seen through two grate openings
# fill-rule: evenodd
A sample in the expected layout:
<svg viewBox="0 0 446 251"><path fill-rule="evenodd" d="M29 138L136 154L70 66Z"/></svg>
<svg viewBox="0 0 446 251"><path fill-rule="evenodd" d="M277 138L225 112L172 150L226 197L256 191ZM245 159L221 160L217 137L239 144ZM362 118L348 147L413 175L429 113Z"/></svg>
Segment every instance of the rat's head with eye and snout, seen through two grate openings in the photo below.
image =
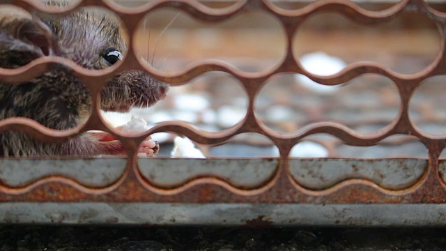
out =
<svg viewBox="0 0 446 251"><path fill-rule="evenodd" d="M33 22L37 28L30 39L43 55L63 56L84 68L112 66L127 50L118 19L103 11L81 9L58 17L35 17ZM168 89L141 71L118 73L101 93L101 108L128 112L131 107L148 107L164 98Z"/></svg>

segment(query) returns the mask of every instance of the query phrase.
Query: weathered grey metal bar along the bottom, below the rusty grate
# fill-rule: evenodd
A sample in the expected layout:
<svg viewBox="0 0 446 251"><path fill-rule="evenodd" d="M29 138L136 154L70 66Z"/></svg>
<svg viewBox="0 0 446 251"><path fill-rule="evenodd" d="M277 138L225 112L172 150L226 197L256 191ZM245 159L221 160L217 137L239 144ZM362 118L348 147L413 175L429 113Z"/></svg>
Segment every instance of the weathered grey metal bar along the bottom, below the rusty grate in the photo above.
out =
<svg viewBox="0 0 446 251"><path fill-rule="evenodd" d="M2 203L2 224L444 226L445 204Z"/></svg>

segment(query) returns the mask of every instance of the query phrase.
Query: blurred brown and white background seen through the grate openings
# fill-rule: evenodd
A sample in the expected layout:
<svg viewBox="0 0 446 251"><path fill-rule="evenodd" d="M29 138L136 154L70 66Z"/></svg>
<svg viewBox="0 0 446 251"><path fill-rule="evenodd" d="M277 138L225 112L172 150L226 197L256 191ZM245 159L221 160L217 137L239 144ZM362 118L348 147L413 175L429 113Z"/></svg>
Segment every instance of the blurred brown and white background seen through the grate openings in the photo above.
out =
<svg viewBox="0 0 446 251"><path fill-rule="evenodd" d="M137 7L147 1L117 3ZM215 10L236 1L200 1ZM305 8L312 1L272 1L279 8ZM386 10L397 1L355 1L365 10ZM445 10L441 1L428 1ZM178 74L208 59L230 63L238 70L259 73L272 70L286 53L282 26L275 17L243 12L225 22L206 23L182 11L162 8L139 26L136 40L140 56L153 68ZM395 73L410 75L429 67L440 53L436 24L415 14L397 15L378 25L359 24L337 13L309 16L293 38L293 52L305 70L333 75L351 63L370 61ZM418 130L431 135L446 132L445 103L441 102L445 77L432 77L420 85L410 101L410 119ZM361 75L337 86L324 86L303 75L280 74L268 79L255 101L259 120L275 132L293 134L320 121L336 121L361 135L378 132L399 116L400 98L391 79ZM201 130L217 132L235 126L246 114L247 96L237 79L226 73L206 73L182 86L151 109L131 114L107 114L116 124L132 115L149 125L161 121L187 121ZM160 155L170 155L175 135L153 135L161 143ZM277 156L266 137L246 133L222 146L199 146L209 157ZM292 157L427 158L417 139L406 135L385 139L378 146L346 146L329 135L312 135L296 145Z"/></svg>

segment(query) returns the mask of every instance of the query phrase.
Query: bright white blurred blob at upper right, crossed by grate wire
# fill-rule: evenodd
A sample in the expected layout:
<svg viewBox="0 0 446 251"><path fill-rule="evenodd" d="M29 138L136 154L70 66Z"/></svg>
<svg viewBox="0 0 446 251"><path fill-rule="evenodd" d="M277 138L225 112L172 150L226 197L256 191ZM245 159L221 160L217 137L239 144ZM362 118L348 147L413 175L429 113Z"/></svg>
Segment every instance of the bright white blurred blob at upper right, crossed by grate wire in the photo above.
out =
<svg viewBox="0 0 446 251"><path fill-rule="evenodd" d="M305 54L299 59L302 67L309 73L318 76L330 76L339 73L346 68L347 64L342 59L335 56L330 56L325 52L313 52ZM336 92L341 86L326 86L314 82L305 75L296 74L296 80L305 88L315 91L320 94L330 94Z"/></svg>

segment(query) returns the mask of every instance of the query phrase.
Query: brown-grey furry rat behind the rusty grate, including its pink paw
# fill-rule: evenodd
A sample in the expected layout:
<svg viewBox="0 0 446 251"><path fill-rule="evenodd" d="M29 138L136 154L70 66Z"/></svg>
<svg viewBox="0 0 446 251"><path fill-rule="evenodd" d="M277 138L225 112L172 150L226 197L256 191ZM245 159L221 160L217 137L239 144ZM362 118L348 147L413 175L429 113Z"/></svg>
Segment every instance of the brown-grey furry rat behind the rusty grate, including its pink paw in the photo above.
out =
<svg viewBox="0 0 446 251"><path fill-rule="evenodd" d="M3 6L0 9L1 68L19 68L50 55L65 57L88 69L106 68L123 59L126 44L112 15L87 9L60 16L31 15ZM101 92L100 107L116 112L149 107L164 98L168 89L167 84L144 72L129 70L108 80ZM26 117L48 128L66 130L86 121L91 109L88 89L70 68L60 64L24 83L0 81L0 119ZM140 152L157 152L156 142L144 142ZM117 153L125 153L117 140L100 140L88 132L54 144L39 142L22 132L0 134L0 156L5 157Z"/></svg>

